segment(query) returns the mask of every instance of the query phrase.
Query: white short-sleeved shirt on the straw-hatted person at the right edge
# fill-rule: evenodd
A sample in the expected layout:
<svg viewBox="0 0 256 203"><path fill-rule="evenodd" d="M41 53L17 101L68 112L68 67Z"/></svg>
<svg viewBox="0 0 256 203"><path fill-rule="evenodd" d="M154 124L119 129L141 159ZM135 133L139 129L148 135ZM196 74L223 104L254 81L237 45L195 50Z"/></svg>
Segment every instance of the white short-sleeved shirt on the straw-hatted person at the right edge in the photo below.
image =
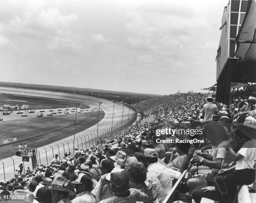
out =
<svg viewBox="0 0 256 203"><path fill-rule="evenodd" d="M238 151L243 156L242 159L236 162L236 170L246 168L254 169L254 160L256 159L256 140L249 140L243 144L243 147Z"/></svg>

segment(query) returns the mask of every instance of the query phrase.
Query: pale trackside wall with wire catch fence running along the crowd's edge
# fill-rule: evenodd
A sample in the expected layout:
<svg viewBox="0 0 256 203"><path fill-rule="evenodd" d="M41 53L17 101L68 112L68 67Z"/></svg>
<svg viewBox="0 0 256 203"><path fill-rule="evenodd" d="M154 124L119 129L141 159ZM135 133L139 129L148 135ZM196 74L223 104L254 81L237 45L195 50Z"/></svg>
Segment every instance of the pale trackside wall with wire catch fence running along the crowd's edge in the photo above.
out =
<svg viewBox="0 0 256 203"><path fill-rule="evenodd" d="M136 117L137 112L134 112L133 116L131 116L129 119L125 119L123 120L123 122L113 124L113 126L111 125L107 127L102 127L98 129L98 133L96 130L94 132L89 132L87 134L76 135L75 139L64 139L47 145L46 147L40 147L40 149L36 150L37 163L38 165L49 165L51 163L51 160L55 157L55 154L58 154L59 157L62 158L64 152L73 152L75 147L77 147L78 149L87 149L94 145L97 145L97 143L100 142L101 139L110 139L111 137L114 137L115 134L118 134L128 129L128 127L130 127L136 120ZM20 163L23 163L24 173L28 167L32 169L31 160L30 162L22 162L20 159L18 161L13 159L12 157L9 157L7 162L3 162L2 160L0 160L0 162L2 163L0 163L0 171L3 172L0 173L0 181L5 180L6 182L7 180L13 178L15 174L15 169ZM5 170L5 165L8 165L8 171ZM10 170L10 165L13 165L13 170Z"/></svg>

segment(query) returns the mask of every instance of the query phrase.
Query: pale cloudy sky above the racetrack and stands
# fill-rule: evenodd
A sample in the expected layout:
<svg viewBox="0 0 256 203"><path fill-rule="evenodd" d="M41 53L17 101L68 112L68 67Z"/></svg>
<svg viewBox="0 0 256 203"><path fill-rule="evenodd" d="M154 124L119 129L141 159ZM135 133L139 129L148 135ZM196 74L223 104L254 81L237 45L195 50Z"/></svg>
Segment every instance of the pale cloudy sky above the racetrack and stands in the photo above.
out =
<svg viewBox="0 0 256 203"><path fill-rule="evenodd" d="M228 0L1 0L0 81L147 94L215 84Z"/></svg>

